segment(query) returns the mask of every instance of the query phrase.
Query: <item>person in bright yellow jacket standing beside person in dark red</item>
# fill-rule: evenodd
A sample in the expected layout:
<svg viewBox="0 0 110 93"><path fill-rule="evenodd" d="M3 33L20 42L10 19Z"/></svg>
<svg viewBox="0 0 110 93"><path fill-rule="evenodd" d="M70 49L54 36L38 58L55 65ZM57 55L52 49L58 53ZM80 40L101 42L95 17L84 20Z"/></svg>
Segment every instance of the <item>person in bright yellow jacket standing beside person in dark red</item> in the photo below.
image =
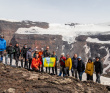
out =
<svg viewBox="0 0 110 93"><path fill-rule="evenodd" d="M72 60L69 56L69 54L66 55L66 60L65 60L65 68L64 68L64 71L65 71L65 75L69 76L69 70L71 70L71 67L72 67Z"/></svg>

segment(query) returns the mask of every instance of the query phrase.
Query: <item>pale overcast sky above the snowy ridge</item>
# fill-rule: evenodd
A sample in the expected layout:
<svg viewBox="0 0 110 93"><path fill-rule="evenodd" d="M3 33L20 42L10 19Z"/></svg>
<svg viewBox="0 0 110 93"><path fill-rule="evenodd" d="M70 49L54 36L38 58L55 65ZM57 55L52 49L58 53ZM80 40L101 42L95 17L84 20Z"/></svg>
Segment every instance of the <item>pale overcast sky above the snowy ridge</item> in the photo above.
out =
<svg viewBox="0 0 110 93"><path fill-rule="evenodd" d="M0 0L0 19L49 23L110 22L110 0Z"/></svg>

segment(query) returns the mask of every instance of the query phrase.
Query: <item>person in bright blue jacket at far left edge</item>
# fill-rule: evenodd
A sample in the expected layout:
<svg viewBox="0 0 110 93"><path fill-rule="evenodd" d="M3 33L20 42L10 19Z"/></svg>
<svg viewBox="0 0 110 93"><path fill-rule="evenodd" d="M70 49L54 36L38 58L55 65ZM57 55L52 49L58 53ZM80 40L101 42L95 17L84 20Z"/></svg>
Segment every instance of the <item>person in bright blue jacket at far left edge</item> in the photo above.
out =
<svg viewBox="0 0 110 93"><path fill-rule="evenodd" d="M4 50L6 50L6 40L3 35L0 35L0 62L3 62Z"/></svg>

